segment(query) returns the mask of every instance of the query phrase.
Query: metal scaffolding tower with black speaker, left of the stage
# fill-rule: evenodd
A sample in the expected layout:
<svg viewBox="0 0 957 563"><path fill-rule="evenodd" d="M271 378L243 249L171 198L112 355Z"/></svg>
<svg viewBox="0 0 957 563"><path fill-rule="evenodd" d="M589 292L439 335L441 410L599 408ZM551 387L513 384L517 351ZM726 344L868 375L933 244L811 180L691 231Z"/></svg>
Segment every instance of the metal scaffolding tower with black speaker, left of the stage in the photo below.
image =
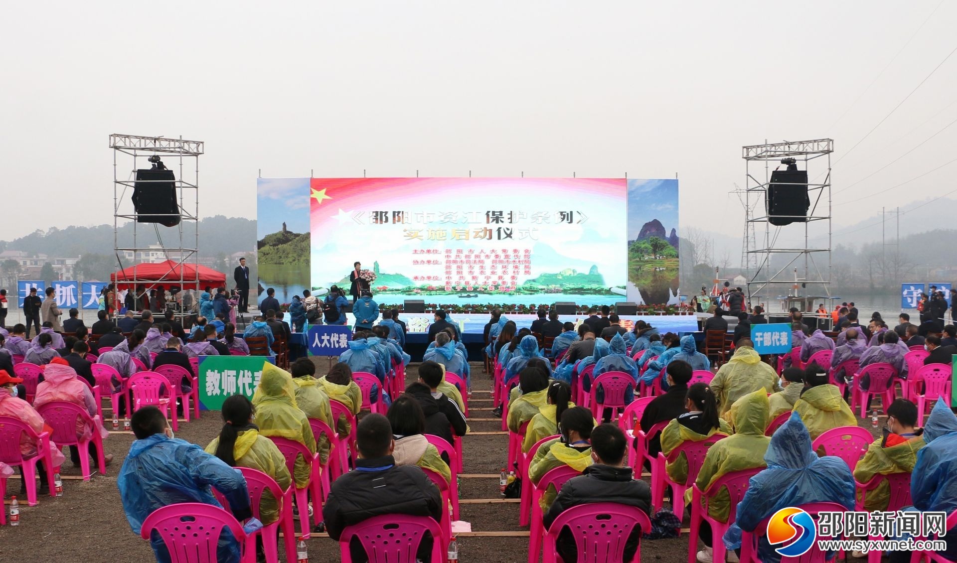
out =
<svg viewBox="0 0 957 563"><path fill-rule="evenodd" d="M186 141L165 137L141 137L137 135L110 135L113 149L113 248L120 270L126 275L116 279L117 288L130 288L136 298L137 309L141 308L143 293L136 293L141 285L146 295L156 286L169 289L199 289L199 155L203 154L203 141ZM148 189L149 184L169 184L168 180L136 180L138 169L150 168L149 157L165 160L167 168L174 171L173 181L176 198L175 213L138 212L133 206L133 192L137 186ZM177 217L174 227L159 223L140 223L141 216L152 218ZM132 222L132 236L121 234L120 228ZM122 239L122 240L121 240ZM162 281L139 277L137 265L151 262L161 254L171 261L167 275ZM131 267L130 271L126 271ZM168 306L168 305L167 305ZM185 316L185 312L175 310Z"/></svg>

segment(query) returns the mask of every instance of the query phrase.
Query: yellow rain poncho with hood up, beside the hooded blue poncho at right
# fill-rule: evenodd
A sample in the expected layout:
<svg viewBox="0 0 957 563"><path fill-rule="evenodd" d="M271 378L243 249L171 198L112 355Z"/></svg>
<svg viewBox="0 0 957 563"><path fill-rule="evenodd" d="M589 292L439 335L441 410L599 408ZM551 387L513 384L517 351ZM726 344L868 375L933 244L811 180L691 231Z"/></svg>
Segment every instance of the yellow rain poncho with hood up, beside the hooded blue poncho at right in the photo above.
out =
<svg viewBox="0 0 957 563"><path fill-rule="evenodd" d="M771 439L765 436L768 427L768 393L759 389L734 403L734 434L718 441L708 449L704 465L695 485L702 491L731 471L765 467L765 451ZM691 502L691 489L685 491L686 503ZM727 489L717 491L708 502L708 514L721 522L727 520L730 509Z"/></svg>

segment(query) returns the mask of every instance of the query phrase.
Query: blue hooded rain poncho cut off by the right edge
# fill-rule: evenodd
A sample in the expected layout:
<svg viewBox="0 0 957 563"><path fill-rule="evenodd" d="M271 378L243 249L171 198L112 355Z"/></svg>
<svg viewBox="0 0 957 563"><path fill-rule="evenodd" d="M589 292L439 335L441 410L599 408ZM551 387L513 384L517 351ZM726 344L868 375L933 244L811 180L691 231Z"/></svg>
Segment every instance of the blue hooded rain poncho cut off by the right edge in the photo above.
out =
<svg viewBox="0 0 957 563"><path fill-rule="evenodd" d="M926 445L910 474L914 508L949 514L957 509L957 416L944 401L930 411L923 437Z"/></svg>

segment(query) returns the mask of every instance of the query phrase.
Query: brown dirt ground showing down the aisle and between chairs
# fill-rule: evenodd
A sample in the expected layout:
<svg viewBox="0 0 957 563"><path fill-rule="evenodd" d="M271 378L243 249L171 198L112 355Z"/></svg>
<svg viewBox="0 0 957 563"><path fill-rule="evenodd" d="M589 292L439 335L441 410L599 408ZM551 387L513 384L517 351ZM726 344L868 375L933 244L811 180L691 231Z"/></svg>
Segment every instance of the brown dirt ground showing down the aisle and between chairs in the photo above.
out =
<svg viewBox="0 0 957 563"><path fill-rule="evenodd" d="M327 364L317 361L320 374ZM501 431L501 422L476 421L492 418L491 385L489 376L482 374L481 365L472 364L474 394L470 426L475 432ZM416 378L417 366L408 369L407 382ZM479 410L488 409L488 410ZM870 421L858 421L870 428ZM218 411L203 412L202 419L180 423L176 438L206 446L218 434L222 425ZM0 562L4 561L53 561L55 563L149 563L154 561L147 542L134 534L123 516L116 475L130 444L131 434L111 433L104 446L107 453L115 456L106 475L99 473L89 482L78 477L78 467L69 460L63 466L64 494L62 497L40 497L39 504L26 507L25 495L19 495L19 478L7 482L5 503L10 504L11 494L20 500L20 526L0 527ZM500 499L498 472L505 464L507 436L505 434L466 436L464 447L464 473L468 475L493 475L462 479L462 499ZM646 478L647 479L647 478ZM5 507L9 509L9 507ZM473 531L527 531L519 527L517 503L462 504L461 519L471 522ZM687 525L687 522L685 522ZM298 523L297 523L298 527ZM328 537L307 540L310 562L339 561L339 547ZM525 563L528 553L528 538L523 537L476 537L459 536L459 559L480 563ZM280 544L280 561L282 548ZM681 563L687 560L688 537L644 541L641 544L641 560Z"/></svg>

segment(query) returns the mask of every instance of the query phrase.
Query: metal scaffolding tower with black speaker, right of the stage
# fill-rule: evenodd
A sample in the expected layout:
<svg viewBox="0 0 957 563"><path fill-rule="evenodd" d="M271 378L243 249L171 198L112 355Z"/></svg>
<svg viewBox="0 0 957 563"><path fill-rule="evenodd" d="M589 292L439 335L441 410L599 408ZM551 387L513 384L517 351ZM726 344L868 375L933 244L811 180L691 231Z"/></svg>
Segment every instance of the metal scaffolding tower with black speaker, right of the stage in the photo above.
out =
<svg viewBox="0 0 957 563"><path fill-rule="evenodd" d="M812 301L831 297L831 153L834 140L783 141L742 147L745 159L745 210L747 226L754 227L756 241L744 237L747 264L747 298L779 299L787 311L791 306L802 313L814 312ZM772 219L793 216L771 215L768 210L771 162L794 159L808 171L811 206L803 222L775 226ZM762 165L763 164L763 165ZM761 168L764 168L762 174ZM803 230L803 232L801 232ZM812 241L826 240L826 244ZM753 260L752 260L753 257ZM745 266L744 264L742 265ZM782 286L787 286L787 290ZM755 302L756 304L756 302ZM766 306L767 307L767 306Z"/></svg>

